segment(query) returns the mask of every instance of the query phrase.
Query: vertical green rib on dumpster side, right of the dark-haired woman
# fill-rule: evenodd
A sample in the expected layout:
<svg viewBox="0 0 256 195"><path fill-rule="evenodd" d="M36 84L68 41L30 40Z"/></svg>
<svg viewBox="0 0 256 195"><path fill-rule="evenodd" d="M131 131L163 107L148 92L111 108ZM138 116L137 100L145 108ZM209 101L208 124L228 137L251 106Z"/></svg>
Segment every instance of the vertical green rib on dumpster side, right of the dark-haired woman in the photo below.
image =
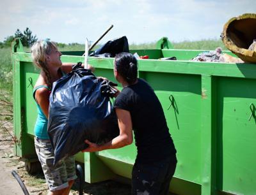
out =
<svg viewBox="0 0 256 195"><path fill-rule="evenodd" d="M216 78L202 75L201 194L216 194Z"/></svg>

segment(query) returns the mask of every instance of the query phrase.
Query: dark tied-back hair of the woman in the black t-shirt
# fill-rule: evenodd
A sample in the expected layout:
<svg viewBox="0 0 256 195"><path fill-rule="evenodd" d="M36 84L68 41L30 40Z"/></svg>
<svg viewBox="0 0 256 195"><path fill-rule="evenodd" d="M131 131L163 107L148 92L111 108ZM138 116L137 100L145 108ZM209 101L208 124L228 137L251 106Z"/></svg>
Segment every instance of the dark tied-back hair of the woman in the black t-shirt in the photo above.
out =
<svg viewBox="0 0 256 195"><path fill-rule="evenodd" d="M116 71L124 78L125 82L132 85L137 80L138 66L137 59L134 55L126 52L116 54L115 68Z"/></svg>

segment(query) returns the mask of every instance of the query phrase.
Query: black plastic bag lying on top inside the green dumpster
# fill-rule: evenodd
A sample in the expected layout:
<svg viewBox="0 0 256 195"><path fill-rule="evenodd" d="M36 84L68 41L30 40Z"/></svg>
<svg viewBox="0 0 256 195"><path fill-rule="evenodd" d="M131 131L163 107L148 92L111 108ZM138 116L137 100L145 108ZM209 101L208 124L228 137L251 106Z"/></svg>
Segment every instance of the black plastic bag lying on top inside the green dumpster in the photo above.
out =
<svg viewBox="0 0 256 195"><path fill-rule="evenodd" d="M119 54L120 52L129 52L129 44L126 36L122 36L121 38L108 41L107 43L102 45L102 47L92 52L90 56L115 57L115 55ZM104 55L100 55L100 54L104 54Z"/></svg>

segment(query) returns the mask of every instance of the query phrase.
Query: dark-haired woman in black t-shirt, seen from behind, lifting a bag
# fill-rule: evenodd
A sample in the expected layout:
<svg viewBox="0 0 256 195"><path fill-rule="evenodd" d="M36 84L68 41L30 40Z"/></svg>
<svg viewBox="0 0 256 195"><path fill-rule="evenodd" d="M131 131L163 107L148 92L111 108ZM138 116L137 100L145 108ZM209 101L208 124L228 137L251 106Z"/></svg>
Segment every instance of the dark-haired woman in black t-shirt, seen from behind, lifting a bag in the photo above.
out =
<svg viewBox="0 0 256 195"><path fill-rule="evenodd" d="M114 61L114 75L124 87L114 107L120 134L104 145L86 140L83 152L120 148L132 143L132 129L138 154L132 169L132 194L168 194L177 159L163 108L154 90L137 78L134 55L120 53Z"/></svg>

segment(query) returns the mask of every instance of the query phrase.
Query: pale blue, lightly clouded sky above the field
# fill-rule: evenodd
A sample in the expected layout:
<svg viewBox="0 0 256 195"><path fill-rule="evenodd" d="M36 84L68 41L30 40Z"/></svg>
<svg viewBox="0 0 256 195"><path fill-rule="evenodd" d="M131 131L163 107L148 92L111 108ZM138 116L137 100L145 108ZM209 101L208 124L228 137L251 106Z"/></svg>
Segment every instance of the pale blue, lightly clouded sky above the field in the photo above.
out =
<svg viewBox="0 0 256 195"><path fill-rule="evenodd" d="M127 36L129 43L219 38L223 25L243 13L256 13L256 0L1 0L0 41L29 27L39 39L61 43Z"/></svg>

